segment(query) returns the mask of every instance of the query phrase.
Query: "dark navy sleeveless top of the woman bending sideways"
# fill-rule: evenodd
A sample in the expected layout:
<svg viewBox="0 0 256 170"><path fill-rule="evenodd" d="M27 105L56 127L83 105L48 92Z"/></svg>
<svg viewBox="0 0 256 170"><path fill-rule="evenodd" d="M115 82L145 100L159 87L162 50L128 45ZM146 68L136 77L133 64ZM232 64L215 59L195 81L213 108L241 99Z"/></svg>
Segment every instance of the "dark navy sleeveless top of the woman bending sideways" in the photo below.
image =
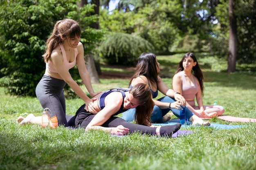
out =
<svg viewBox="0 0 256 170"><path fill-rule="evenodd" d="M123 108L124 108L124 97L126 97L124 92L126 92L126 91L129 91L129 89L112 88L112 89L109 89L109 90L103 92L101 94L101 96L99 97L99 100L98 100L99 108L102 110L105 107L105 98L106 98L107 95L109 95L112 92L120 92L120 93L122 93L122 96L123 96L123 102L122 102L122 105L121 105L120 109L113 116L118 115L119 113L124 112L125 111L125 110L123 110Z"/></svg>

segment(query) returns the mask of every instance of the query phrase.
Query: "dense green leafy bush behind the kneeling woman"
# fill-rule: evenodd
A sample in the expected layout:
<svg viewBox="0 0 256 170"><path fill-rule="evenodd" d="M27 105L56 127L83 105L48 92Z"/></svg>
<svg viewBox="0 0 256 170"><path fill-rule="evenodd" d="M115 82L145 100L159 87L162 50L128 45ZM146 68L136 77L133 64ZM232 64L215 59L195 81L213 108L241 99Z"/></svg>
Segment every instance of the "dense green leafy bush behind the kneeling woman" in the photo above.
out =
<svg viewBox="0 0 256 170"><path fill-rule="evenodd" d="M91 52L103 34L90 28L97 21L97 16L88 16L92 10L91 5L78 9L76 0L1 1L0 85L12 95L35 95L45 69L45 40L57 20L77 20L83 28L85 53Z"/></svg>

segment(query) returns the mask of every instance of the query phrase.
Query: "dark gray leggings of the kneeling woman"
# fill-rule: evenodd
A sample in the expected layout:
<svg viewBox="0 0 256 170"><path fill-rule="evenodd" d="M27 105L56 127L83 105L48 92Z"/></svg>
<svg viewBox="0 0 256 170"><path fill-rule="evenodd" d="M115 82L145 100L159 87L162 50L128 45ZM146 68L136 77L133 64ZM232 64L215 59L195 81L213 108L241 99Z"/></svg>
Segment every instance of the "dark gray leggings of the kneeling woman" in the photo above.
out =
<svg viewBox="0 0 256 170"><path fill-rule="evenodd" d="M43 108L49 108L50 118L56 116L58 125L68 126L66 115L66 104L63 88L66 82L48 75L43 75L36 86L36 97Z"/></svg>

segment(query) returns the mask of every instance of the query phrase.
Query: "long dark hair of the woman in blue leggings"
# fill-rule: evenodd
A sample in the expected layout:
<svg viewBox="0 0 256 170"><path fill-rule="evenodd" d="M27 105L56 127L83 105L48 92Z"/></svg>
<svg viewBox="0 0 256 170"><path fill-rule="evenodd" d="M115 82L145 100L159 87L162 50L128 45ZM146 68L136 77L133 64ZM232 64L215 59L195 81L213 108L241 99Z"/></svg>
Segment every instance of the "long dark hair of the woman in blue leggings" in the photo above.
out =
<svg viewBox="0 0 256 170"><path fill-rule="evenodd" d="M129 86L132 83L132 79L144 75L151 82L157 83L157 62L156 55L153 53L142 53L139 56L138 63L134 75L132 76Z"/></svg>

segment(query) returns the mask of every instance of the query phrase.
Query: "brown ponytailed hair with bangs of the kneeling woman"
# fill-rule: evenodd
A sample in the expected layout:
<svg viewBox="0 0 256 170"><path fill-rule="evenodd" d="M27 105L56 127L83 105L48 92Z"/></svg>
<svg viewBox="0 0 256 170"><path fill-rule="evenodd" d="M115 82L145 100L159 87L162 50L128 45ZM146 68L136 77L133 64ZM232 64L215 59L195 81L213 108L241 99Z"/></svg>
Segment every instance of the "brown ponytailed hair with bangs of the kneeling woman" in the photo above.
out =
<svg viewBox="0 0 256 170"><path fill-rule="evenodd" d="M57 21L54 25L52 35L46 41L46 51L43 54L44 61L49 61L52 50L55 49L59 44L63 43L65 39L80 36L81 28L75 20L64 19Z"/></svg>

